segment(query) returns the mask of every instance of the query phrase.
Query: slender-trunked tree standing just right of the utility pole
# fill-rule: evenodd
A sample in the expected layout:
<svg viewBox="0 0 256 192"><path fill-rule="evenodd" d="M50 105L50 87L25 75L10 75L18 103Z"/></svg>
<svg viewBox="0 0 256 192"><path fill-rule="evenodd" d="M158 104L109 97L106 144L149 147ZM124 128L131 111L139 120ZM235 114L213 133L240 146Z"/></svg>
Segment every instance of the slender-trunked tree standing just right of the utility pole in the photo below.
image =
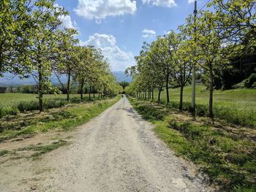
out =
<svg viewBox="0 0 256 192"><path fill-rule="evenodd" d="M222 34L217 28L217 17L213 12L201 12L197 23L196 38L198 65L208 77L207 83L210 91L208 112L210 118L213 119L214 71L222 69L223 65L227 63Z"/></svg>

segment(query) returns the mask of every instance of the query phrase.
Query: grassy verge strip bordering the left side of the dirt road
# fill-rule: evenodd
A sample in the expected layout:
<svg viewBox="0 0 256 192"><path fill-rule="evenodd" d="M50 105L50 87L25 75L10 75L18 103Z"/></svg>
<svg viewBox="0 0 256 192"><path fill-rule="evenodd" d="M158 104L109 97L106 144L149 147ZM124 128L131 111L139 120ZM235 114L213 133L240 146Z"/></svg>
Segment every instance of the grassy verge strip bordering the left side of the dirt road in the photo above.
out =
<svg viewBox="0 0 256 192"><path fill-rule="evenodd" d="M114 99L73 104L59 110L49 110L49 112L37 114L36 116L33 114L20 116L20 120L15 117L16 122L12 122L12 119L6 119L0 124L0 142L19 135L35 134L49 129L67 131L70 128L88 122L91 118L96 117L115 104L119 99L120 96Z"/></svg>

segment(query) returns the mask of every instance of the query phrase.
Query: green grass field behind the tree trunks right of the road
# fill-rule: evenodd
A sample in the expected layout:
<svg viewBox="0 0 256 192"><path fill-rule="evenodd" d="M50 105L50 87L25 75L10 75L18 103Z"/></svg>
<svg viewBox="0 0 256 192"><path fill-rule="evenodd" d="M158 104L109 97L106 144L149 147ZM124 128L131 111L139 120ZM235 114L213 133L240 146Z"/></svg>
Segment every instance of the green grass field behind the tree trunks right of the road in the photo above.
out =
<svg viewBox="0 0 256 192"><path fill-rule="evenodd" d="M184 88L184 110L191 106L190 86ZM209 92L203 85L197 85L196 104L197 115L208 115ZM157 92L154 95L157 101ZM166 103L166 91L161 94L161 103ZM170 106L178 108L179 88L170 89ZM214 91L214 116L227 123L234 123L241 126L256 126L256 89L235 89L228 91Z"/></svg>

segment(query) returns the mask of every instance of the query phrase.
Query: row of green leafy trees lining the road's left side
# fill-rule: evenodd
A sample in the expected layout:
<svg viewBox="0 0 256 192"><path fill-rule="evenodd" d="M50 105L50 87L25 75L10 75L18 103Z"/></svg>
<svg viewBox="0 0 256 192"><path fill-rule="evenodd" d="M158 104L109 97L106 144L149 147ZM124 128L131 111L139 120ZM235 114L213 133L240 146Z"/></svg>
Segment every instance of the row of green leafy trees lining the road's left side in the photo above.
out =
<svg viewBox="0 0 256 192"><path fill-rule="evenodd" d="M71 80L79 82L81 99L85 85L103 96L121 90L100 50L79 46L78 31L63 27L66 15L55 0L4 0L0 4L0 76L10 72L34 77L40 111L45 91L59 92L50 82L53 73L60 82L61 75L67 76L67 83L61 82L67 101Z"/></svg>

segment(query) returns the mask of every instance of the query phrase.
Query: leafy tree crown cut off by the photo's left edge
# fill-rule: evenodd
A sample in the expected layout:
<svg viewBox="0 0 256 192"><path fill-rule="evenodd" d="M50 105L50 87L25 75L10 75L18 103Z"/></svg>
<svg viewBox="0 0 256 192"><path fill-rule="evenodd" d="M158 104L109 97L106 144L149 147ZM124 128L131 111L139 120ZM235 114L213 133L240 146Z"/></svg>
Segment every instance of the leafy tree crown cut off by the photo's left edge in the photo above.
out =
<svg viewBox="0 0 256 192"><path fill-rule="evenodd" d="M27 77L27 46L31 45L33 22L29 0L5 0L0 4L0 77L4 72Z"/></svg>

